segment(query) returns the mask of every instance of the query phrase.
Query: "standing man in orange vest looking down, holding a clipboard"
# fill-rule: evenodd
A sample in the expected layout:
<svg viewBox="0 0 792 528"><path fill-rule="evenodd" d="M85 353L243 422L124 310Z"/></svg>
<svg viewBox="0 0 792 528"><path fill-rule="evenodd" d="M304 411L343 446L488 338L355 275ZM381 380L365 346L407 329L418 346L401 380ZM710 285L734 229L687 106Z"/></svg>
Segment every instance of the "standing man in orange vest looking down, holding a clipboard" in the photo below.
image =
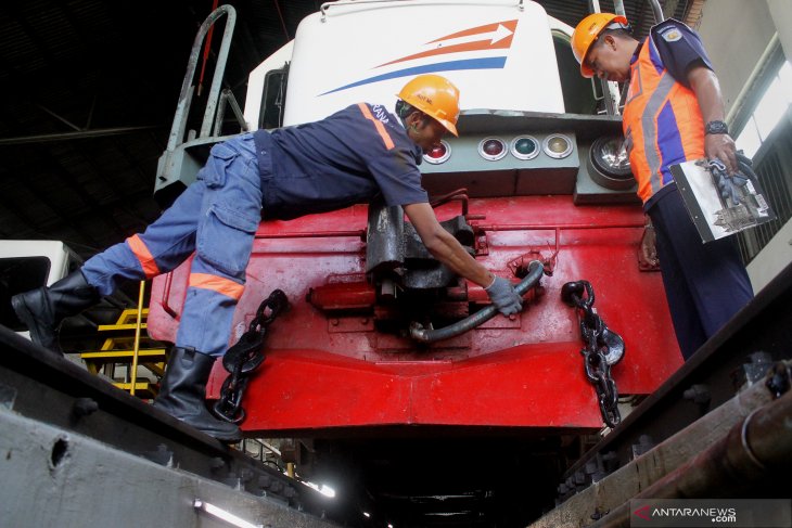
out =
<svg viewBox="0 0 792 528"><path fill-rule="evenodd" d="M699 36L675 20L652 27L643 42L628 31L624 16L588 15L572 35L572 51L584 77L629 81L625 141L687 360L753 298L753 289L732 239L702 243L668 168L707 157L731 175L738 169L734 141Z"/></svg>

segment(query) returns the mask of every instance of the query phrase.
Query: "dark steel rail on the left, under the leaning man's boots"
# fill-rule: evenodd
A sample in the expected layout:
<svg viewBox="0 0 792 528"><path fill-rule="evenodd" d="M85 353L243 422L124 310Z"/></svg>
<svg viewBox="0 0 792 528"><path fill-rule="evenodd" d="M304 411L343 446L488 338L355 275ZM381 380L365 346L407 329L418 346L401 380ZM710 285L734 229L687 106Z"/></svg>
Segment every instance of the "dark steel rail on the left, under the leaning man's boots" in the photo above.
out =
<svg viewBox="0 0 792 528"><path fill-rule="evenodd" d="M0 412L344 523L321 493L0 325ZM8 482L4 482L8 486Z"/></svg>

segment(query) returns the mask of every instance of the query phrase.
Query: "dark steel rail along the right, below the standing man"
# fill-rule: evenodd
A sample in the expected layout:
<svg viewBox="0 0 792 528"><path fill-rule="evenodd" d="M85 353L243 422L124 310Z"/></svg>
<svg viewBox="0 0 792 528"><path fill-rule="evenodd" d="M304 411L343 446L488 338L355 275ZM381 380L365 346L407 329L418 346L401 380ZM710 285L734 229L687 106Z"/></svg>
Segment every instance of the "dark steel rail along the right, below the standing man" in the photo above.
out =
<svg viewBox="0 0 792 528"><path fill-rule="evenodd" d="M711 409L733 398L739 386L759 382L772 361L791 360L790 296L792 265L615 429L577 460L564 474L563 481L572 482L578 492L587 489L592 482L587 466L602 465L600 461L606 459L612 467L605 474L617 471L634 460L647 441L650 446L665 441L710 413ZM769 359L757 360L761 357ZM697 392L702 397L697 398Z"/></svg>

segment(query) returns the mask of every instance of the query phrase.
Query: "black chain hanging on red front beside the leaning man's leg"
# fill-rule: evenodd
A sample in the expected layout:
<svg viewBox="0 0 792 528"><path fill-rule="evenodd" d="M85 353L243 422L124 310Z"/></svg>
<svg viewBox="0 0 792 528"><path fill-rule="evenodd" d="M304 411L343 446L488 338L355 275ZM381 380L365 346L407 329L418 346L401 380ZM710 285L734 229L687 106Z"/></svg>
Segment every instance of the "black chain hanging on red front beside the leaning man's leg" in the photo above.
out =
<svg viewBox="0 0 792 528"><path fill-rule="evenodd" d="M242 398L251 373L264 362L264 337L267 334L267 326L272 324L288 307L286 294L280 289L272 292L259 305L247 332L242 334L222 357L222 366L230 375L222 382L220 399L215 402L213 408L218 418L233 424L245 420ZM267 312L268 308L269 312Z"/></svg>

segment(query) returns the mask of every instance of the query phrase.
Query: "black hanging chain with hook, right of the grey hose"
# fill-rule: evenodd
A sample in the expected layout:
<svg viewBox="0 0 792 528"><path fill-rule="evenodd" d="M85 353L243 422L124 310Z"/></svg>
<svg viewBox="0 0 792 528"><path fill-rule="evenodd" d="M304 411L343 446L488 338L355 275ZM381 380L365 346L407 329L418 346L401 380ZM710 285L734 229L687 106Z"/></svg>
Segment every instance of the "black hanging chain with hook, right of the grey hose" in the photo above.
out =
<svg viewBox="0 0 792 528"><path fill-rule="evenodd" d="M610 330L597 314L597 309L593 308L593 287L588 281L564 284L561 287L561 299L577 308L580 335L586 344L580 350L586 377L597 391L602 420L613 428L622 421L622 415L618 412L618 390L616 382L611 377L611 366L624 357L624 339Z"/></svg>

